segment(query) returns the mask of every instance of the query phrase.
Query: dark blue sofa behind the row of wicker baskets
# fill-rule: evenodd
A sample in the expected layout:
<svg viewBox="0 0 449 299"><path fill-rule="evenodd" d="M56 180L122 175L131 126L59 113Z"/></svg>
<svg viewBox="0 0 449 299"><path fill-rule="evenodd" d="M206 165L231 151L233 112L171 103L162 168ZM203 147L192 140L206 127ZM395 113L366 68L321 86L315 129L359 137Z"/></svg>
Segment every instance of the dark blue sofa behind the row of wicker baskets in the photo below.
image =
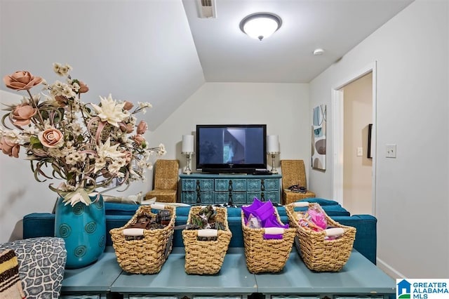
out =
<svg viewBox="0 0 449 299"><path fill-rule="evenodd" d="M333 220L340 222L342 225L356 227L356 240L354 248L364 255L372 263L376 263L377 251L377 219L372 215L350 215L337 201L328 199L304 199L310 202L319 203L324 211ZM105 204L106 209L106 230L107 230L107 246L112 246L109 230L115 227L122 227L134 215L138 205L133 204ZM176 208L175 225L185 225L189 215L190 207ZM298 208L298 210L305 208ZM288 223L286 209L283 206L277 207L282 222ZM243 247L243 234L241 230L241 209L228 208L228 224L232 231L232 239L229 247ZM33 237L53 237L55 225L55 215L52 213L31 213L23 218L23 237L24 239ZM184 246L182 242L182 230L175 230L173 238L174 247Z"/></svg>

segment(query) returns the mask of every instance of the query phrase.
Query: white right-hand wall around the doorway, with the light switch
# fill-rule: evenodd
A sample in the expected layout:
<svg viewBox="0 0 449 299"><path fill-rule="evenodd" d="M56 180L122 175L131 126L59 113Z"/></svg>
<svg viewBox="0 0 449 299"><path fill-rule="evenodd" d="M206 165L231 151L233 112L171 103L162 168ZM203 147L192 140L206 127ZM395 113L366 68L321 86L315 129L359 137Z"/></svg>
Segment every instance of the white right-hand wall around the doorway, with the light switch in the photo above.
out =
<svg viewBox="0 0 449 299"><path fill-rule="evenodd" d="M449 277L448 6L413 2L310 84L311 105L331 109L331 89L377 61L377 258L396 277ZM328 124L331 133L331 117ZM396 159L385 158L389 143ZM324 197L331 155L328 165L309 174Z"/></svg>

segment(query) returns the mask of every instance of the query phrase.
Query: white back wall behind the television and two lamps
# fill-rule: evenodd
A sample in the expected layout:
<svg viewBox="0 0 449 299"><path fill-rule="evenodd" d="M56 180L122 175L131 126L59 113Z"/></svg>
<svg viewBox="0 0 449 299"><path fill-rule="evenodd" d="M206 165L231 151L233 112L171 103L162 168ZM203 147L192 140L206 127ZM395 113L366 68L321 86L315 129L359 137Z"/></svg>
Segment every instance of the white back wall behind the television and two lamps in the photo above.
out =
<svg viewBox="0 0 449 299"><path fill-rule="evenodd" d="M309 162L308 84L206 83L152 133L152 140L175 145L167 157L180 160L182 135L195 135L196 124L267 124L268 135L279 135L279 159ZM196 150L196 149L195 149ZM195 171L195 156L192 170ZM267 157L271 168L271 157Z"/></svg>

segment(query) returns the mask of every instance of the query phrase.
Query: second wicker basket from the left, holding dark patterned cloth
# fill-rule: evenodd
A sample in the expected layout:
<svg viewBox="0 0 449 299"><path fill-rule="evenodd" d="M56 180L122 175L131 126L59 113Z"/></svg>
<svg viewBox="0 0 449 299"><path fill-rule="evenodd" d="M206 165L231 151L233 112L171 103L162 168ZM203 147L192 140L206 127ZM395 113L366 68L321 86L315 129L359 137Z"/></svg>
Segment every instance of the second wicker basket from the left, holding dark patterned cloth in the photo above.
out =
<svg viewBox="0 0 449 299"><path fill-rule="evenodd" d="M203 206L192 206L187 224L191 222L192 214L196 215ZM185 247L185 272L187 274L216 274L220 271L232 232L227 224L227 208L215 208L217 221L225 225L225 230L216 230L217 241L199 241L202 232L210 230L183 230L182 240ZM215 230L214 230L215 231Z"/></svg>

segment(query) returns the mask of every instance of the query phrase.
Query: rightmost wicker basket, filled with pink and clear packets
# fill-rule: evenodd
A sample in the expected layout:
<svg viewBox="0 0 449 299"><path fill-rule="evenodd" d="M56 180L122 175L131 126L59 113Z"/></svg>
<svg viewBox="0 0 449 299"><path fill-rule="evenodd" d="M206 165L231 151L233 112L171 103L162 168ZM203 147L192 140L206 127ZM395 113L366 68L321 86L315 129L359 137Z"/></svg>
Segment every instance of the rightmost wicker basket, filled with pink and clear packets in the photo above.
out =
<svg viewBox="0 0 449 299"><path fill-rule="evenodd" d="M347 263L351 255L354 239L356 239L355 227L340 225L326 215L328 226L340 227L343 231L341 237L333 240L325 239L326 232L315 232L298 224L295 206L309 206L307 202L297 202L286 205L286 213L290 227L296 228L297 238L300 243L300 255L304 264L316 272L337 272Z"/></svg>

